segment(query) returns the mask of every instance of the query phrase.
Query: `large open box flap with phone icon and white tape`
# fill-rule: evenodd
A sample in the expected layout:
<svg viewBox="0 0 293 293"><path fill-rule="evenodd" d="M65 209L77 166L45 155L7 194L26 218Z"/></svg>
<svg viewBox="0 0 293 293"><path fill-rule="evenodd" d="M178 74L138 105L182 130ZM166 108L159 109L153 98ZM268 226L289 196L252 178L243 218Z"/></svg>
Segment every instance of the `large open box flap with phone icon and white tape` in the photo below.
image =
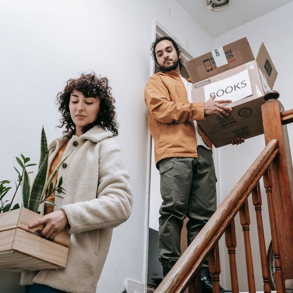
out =
<svg viewBox="0 0 293 293"><path fill-rule="evenodd" d="M254 57L249 42L247 38L243 38L194 58L184 65L192 84L195 84L252 60L254 60ZM223 65L223 63L226 64ZM218 67L216 64L218 64Z"/></svg>

